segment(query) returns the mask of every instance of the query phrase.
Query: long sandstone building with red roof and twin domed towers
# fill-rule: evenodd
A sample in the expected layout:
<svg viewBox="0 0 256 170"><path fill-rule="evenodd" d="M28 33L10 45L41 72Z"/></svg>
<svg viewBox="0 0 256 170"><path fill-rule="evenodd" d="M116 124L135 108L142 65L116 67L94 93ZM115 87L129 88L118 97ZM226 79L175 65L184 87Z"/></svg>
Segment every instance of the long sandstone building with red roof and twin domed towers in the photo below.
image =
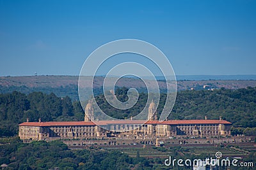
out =
<svg viewBox="0 0 256 170"><path fill-rule="evenodd" d="M100 126L99 126L100 125ZM84 121L81 122L24 122L19 124L20 139L152 139L179 136L206 137L230 136L230 122L226 120L165 120L159 122L156 104L152 101L145 120L94 121L92 102L86 105ZM110 129L110 131L106 130ZM119 132L116 132L119 131Z"/></svg>

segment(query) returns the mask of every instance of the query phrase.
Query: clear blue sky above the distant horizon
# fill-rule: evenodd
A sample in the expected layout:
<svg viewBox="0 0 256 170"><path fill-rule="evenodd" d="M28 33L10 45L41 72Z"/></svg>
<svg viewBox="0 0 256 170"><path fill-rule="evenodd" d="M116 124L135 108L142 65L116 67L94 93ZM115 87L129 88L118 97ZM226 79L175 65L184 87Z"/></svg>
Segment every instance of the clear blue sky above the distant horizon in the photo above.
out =
<svg viewBox="0 0 256 170"><path fill-rule="evenodd" d="M175 74L256 74L256 1L0 0L0 76L78 75L100 45L148 41Z"/></svg>

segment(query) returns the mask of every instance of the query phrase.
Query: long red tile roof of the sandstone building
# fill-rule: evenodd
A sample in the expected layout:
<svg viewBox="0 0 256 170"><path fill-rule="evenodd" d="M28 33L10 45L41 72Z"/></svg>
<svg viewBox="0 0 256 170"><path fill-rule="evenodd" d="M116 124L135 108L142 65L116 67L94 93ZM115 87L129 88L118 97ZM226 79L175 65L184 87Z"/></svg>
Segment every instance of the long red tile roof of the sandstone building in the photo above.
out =
<svg viewBox="0 0 256 170"><path fill-rule="evenodd" d="M159 120L100 120L93 122L24 122L19 126L72 126L72 125L108 125L108 124L166 124L166 125L179 125L179 124L231 124L226 120L167 120L159 122Z"/></svg>

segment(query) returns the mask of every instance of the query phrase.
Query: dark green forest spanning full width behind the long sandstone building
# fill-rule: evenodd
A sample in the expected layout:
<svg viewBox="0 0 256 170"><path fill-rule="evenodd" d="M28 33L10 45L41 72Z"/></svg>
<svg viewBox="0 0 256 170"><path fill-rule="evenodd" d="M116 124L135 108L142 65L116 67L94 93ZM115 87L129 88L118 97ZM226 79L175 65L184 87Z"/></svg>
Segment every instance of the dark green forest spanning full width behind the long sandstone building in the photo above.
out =
<svg viewBox="0 0 256 170"><path fill-rule="evenodd" d="M124 102L127 101L125 88L115 91L116 97ZM129 118L137 115L147 103L147 94L140 93L139 101L129 110L117 110L111 107L103 95L95 97L100 108L116 118ZM163 110L166 94L161 94L158 116ZM147 106L146 106L147 107ZM95 110L97 111L97 110ZM234 127L250 127L245 132L255 134L256 127L256 87L247 89L219 89L219 90L185 90L177 93L177 99L169 120L184 119L218 119L232 122ZM32 92L22 94L0 94L0 137L15 136L18 132L18 124L26 122L42 121L82 121L83 109L79 101L73 101L70 97L57 97L55 94ZM252 131L252 129L254 129ZM243 129L244 131L245 129ZM237 131L241 134L243 131Z"/></svg>

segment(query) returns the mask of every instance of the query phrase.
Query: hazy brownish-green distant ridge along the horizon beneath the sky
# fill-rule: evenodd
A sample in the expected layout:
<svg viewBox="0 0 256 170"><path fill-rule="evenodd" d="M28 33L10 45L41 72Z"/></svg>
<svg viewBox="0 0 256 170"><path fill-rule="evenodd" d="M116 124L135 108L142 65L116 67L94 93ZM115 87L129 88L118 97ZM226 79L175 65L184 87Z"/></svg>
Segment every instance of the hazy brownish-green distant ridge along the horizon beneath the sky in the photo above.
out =
<svg viewBox="0 0 256 170"><path fill-rule="evenodd" d="M202 89L241 89L256 87L256 80L184 80L177 81L178 90L202 90ZM100 94L104 77L96 77L94 88ZM41 91L47 94L54 92L57 96L69 96L73 101L78 100L77 95L78 76L2 76L0 77L0 93L8 93L17 90L28 94ZM85 83L89 87L89 82ZM145 90L143 81L136 78L121 78L117 87L134 87L140 92ZM164 82L159 80L160 88L164 89Z"/></svg>

